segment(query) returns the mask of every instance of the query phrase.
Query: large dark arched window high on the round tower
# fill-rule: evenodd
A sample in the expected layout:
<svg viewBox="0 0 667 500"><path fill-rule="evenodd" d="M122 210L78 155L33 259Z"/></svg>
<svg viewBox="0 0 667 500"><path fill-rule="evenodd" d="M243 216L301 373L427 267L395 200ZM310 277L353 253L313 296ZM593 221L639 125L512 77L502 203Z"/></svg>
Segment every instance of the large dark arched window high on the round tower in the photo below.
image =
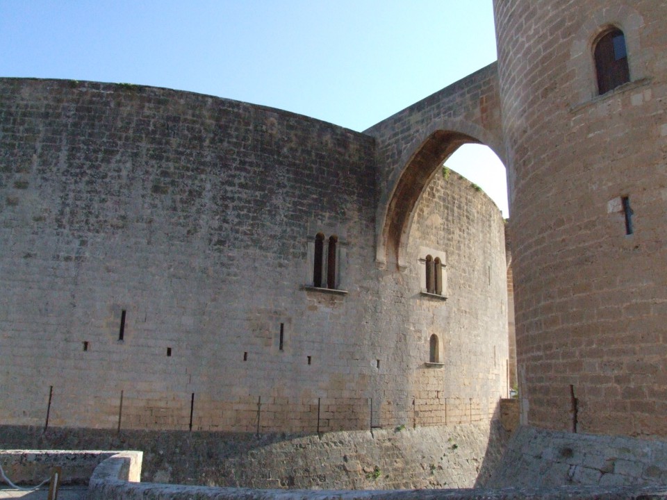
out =
<svg viewBox="0 0 667 500"><path fill-rule="evenodd" d="M613 28L604 32L595 44L594 57L600 95L630 81L623 31Z"/></svg>

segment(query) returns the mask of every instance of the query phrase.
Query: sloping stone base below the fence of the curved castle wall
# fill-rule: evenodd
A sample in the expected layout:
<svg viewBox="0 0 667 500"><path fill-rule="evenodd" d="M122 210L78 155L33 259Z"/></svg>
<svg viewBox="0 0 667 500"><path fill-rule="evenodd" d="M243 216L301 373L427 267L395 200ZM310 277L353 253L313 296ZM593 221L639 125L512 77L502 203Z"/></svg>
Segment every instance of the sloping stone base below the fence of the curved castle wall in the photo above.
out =
<svg viewBox="0 0 667 500"><path fill-rule="evenodd" d="M0 443L140 449L142 481L257 488L397 489L483 485L509 435L495 422L322 435L0 427Z"/></svg>

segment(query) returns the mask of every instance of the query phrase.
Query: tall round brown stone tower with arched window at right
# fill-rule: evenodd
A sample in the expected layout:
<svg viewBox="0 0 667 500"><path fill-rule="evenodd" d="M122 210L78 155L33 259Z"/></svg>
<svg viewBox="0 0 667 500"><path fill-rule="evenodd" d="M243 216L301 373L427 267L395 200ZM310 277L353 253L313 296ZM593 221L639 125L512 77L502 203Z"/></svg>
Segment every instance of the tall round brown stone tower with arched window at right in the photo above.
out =
<svg viewBox="0 0 667 500"><path fill-rule="evenodd" d="M667 3L494 0L522 422L667 435Z"/></svg>

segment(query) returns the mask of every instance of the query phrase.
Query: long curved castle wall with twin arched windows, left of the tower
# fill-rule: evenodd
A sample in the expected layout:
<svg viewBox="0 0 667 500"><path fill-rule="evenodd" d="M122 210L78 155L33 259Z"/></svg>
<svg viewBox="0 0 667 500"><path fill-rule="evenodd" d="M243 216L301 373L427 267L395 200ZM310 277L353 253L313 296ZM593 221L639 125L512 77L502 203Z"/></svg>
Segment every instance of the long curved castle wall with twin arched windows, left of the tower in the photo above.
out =
<svg viewBox="0 0 667 500"><path fill-rule="evenodd" d="M500 213L434 178L410 242L449 256L448 299L425 297L417 250L406 274L375 265L375 161L368 135L261 106L2 79L2 422L488 422L507 393ZM308 287L320 232L336 292ZM445 369L425 365L434 334Z"/></svg>

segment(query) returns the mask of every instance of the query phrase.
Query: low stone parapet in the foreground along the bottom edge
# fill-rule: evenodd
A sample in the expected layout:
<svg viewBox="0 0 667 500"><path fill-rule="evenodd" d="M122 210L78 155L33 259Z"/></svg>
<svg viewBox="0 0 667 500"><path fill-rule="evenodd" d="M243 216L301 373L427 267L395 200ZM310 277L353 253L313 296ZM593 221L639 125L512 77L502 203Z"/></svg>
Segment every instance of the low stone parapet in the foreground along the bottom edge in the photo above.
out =
<svg viewBox="0 0 667 500"><path fill-rule="evenodd" d="M140 451L0 451L0 460L17 474L42 474L45 468L67 467L70 478L85 478L94 468L86 500L593 500L593 499L664 499L667 487L561 487L509 488L505 490L257 490L249 488L205 487L139 483ZM88 478L85 478L88 479ZM63 474L63 481L67 481Z"/></svg>

